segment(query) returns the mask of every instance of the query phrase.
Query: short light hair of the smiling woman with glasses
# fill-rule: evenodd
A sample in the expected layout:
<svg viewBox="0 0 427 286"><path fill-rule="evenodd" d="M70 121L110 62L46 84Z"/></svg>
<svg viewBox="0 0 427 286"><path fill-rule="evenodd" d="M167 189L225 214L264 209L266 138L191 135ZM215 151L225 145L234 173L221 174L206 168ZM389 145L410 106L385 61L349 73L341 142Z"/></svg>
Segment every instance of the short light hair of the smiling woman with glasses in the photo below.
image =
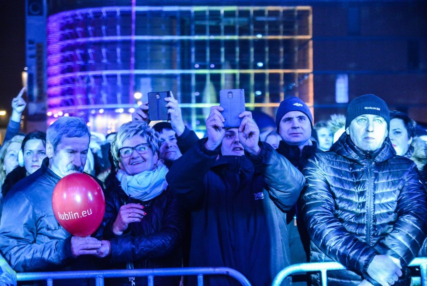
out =
<svg viewBox="0 0 427 286"><path fill-rule="evenodd" d="M159 150L158 146L158 134L157 132L148 126L147 123L141 121L130 121L120 126L117 134L114 136L113 142L111 143L111 155L113 156L114 166L118 169L120 161L119 149L123 147L123 142L127 138L133 136L141 136L147 141L148 147L157 154Z"/></svg>

